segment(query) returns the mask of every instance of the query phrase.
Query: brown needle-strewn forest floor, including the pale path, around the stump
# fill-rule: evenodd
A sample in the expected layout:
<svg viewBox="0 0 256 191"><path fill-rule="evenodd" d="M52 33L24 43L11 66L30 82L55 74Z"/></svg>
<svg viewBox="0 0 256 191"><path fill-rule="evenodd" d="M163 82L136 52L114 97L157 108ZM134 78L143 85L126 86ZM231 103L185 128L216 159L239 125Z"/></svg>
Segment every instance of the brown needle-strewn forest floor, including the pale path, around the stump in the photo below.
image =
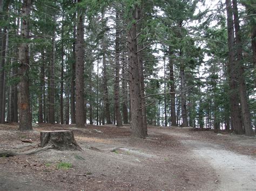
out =
<svg viewBox="0 0 256 191"><path fill-rule="evenodd" d="M39 124L19 132L0 125L0 150L38 148L40 131L72 130L82 151L46 150L0 158L0 190L255 190L256 138L192 128ZM32 143L21 140L31 139ZM72 165L57 169L60 162Z"/></svg>

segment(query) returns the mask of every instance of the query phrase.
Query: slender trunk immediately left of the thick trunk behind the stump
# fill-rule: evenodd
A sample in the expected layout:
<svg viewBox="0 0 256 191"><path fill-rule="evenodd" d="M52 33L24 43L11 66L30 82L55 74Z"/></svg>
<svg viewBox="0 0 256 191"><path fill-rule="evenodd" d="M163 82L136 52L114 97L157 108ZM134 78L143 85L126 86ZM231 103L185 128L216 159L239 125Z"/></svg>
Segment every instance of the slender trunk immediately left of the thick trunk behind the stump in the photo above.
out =
<svg viewBox="0 0 256 191"><path fill-rule="evenodd" d="M73 47L73 62L71 66L70 109L71 109L71 124L75 124L76 123L76 105L75 105L76 25L73 26L73 46L72 47Z"/></svg>

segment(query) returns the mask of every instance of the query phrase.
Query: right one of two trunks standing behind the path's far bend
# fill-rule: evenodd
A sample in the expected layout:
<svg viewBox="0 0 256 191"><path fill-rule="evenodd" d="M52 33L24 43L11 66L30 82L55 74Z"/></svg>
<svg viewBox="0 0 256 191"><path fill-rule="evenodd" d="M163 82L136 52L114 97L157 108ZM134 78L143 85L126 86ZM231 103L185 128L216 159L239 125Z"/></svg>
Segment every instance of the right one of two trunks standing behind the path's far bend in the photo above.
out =
<svg viewBox="0 0 256 191"><path fill-rule="evenodd" d="M181 63L180 66L180 87L181 87L181 126L188 126L187 122L187 105L186 105L186 88L185 88L185 66Z"/></svg>

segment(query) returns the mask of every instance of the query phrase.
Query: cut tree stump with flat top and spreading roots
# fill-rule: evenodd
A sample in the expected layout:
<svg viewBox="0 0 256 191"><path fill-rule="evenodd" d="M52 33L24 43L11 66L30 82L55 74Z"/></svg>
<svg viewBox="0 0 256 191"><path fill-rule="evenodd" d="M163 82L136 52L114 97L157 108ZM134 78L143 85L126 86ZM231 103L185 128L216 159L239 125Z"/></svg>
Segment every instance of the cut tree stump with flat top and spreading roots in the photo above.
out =
<svg viewBox="0 0 256 191"><path fill-rule="evenodd" d="M42 131L41 147L51 145L57 150L82 150L72 131Z"/></svg>

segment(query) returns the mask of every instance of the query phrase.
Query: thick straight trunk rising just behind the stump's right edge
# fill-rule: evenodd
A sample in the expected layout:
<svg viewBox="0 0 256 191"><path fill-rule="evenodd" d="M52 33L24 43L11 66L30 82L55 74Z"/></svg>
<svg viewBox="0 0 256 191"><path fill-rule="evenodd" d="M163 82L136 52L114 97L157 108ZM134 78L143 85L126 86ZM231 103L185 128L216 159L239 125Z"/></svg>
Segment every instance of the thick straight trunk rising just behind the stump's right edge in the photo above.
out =
<svg viewBox="0 0 256 191"><path fill-rule="evenodd" d="M78 1L79 2L79 1ZM84 25L83 13L79 10L76 40L76 126L84 127Z"/></svg>

